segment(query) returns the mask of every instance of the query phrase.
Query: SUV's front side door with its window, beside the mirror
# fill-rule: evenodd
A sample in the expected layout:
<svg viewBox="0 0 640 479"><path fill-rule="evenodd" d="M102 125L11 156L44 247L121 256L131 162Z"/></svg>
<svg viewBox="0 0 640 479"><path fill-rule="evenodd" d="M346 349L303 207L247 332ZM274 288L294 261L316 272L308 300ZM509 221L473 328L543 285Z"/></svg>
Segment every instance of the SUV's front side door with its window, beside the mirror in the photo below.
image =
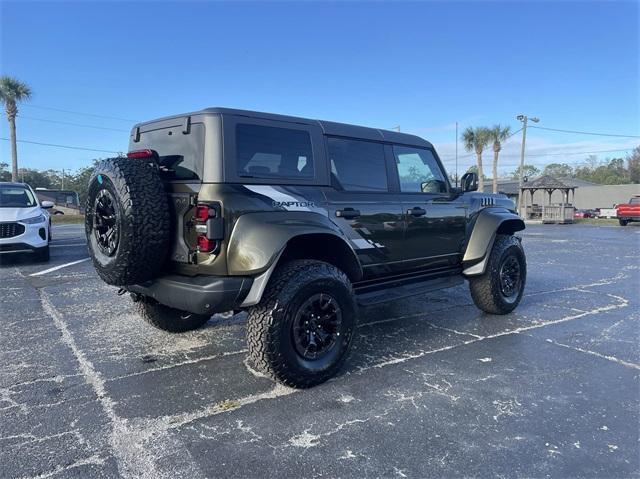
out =
<svg viewBox="0 0 640 479"><path fill-rule="evenodd" d="M406 223L403 260L411 269L460 263L466 208L452 201L450 185L429 148L393 145Z"/></svg>

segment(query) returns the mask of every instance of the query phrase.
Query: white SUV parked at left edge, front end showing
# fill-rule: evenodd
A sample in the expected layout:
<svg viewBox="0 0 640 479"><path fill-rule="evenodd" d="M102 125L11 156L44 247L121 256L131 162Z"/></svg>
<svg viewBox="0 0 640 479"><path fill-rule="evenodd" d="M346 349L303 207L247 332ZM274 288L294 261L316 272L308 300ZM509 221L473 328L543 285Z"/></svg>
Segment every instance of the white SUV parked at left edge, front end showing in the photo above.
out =
<svg viewBox="0 0 640 479"><path fill-rule="evenodd" d="M48 261L51 219L46 210L52 207L25 183L0 182L0 256L33 253Z"/></svg>

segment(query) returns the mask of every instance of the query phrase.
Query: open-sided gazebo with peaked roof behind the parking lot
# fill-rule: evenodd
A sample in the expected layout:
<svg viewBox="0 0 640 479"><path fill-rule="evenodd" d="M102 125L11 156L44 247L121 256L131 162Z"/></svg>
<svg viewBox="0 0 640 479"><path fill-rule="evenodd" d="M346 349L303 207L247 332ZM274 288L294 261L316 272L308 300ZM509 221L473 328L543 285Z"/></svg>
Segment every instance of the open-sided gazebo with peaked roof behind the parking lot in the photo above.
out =
<svg viewBox="0 0 640 479"><path fill-rule="evenodd" d="M531 183L524 183L520 188L524 218L540 219L543 223L573 223L575 208L573 204L569 202L569 192L571 192L571 199L573 201L576 188L577 186L566 185L562 181L549 175L536 178ZM542 205L533 203L533 195L539 190L547 193L547 195L543 196L544 200ZM556 190L562 192L562 202L552 204L551 196ZM527 197L529 197L530 201L527 201Z"/></svg>

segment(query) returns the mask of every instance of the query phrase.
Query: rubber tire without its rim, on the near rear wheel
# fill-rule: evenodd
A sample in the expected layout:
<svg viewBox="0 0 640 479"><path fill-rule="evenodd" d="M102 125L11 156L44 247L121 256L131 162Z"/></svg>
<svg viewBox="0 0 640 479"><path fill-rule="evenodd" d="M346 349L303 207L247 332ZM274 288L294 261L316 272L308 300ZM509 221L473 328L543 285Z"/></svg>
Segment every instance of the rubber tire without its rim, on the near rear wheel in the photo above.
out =
<svg viewBox="0 0 640 479"><path fill-rule="evenodd" d="M293 321L304 301L318 293L335 298L342 321L336 342L326 356L309 361L295 349ZM294 260L280 266L260 303L248 313L250 360L259 371L296 388L320 384L340 370L357 324L357 305L349 279L335 266L315 260Z"/></svg>

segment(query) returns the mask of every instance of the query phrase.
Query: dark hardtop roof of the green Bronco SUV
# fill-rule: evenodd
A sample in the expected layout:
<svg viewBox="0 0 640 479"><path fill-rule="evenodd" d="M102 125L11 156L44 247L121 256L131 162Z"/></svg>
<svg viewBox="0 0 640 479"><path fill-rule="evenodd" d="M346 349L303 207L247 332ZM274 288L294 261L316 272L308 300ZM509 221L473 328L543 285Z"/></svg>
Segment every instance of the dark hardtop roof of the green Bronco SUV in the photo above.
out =
<svg viewBox="0 0 640 479"><path fill-rule="evenodd" d="M326 135L346 136L346 137L361 138L365 140L374 140L374 141L387 141L392 143L402 143L405 145L422 146L426 148L431 148L433 146L427 140L420 138L419 136L410 135L407 133L400 133L397 131L389 131L389 130L383 130L379 128L370 128L366 126L351 125L348 123L337 123L337 122L325 121L325 120L313 120L309 118L280 115L276 113L265 113L265 112L252 111L252 110L239 110L235 108L222 108L222 107L205 108L203 110L194 111L191 113L182 113L179 115L171 115L171 116L158 118L151 121L145 121L145 122L137 123L136 125L134 125L133 129L135 130L136 127L148 125L150 123L157 123L157 122L176 119L176 118L185 118L187 116L208 115L208 114L245 116L248 118L260 118L263 120L286 121L289 123L299 123L303 125L316 125L316 126L319 126L322 129L323 133Z"/></svg>

